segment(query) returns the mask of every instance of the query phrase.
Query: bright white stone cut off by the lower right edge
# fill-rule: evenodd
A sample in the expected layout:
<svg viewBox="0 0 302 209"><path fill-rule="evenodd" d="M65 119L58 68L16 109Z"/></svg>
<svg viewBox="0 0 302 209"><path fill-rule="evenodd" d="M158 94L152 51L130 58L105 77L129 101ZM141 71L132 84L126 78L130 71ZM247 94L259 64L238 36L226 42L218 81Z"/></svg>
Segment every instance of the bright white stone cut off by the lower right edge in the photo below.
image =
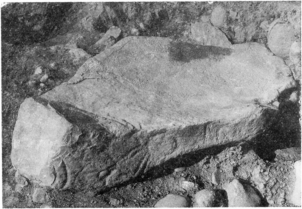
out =
<svg viewBox="0 0 302 209"><path fill-rule="evenodd" d="M301 160L296 161L294 167L296 180L294 183L294 191L289 202L298 207L301 207Z"/></svg>

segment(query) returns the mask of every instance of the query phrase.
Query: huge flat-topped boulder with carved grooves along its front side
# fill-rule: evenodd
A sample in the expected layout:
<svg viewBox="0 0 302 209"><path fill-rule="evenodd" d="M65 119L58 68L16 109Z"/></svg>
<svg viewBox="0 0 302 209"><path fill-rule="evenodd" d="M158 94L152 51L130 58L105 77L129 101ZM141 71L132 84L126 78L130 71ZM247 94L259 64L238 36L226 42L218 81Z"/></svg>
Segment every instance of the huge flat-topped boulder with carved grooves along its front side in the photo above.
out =
<svg viewBox="0 0 302 209"><path fill-rule="evenodd" d="M188 157L196 152L259 139L278 113L271 103L295 85L283 60L258 43L226 49L127 37L68 82L24 100L11 161L58 189L172 173L178 160L197 163Z"/></svg>

